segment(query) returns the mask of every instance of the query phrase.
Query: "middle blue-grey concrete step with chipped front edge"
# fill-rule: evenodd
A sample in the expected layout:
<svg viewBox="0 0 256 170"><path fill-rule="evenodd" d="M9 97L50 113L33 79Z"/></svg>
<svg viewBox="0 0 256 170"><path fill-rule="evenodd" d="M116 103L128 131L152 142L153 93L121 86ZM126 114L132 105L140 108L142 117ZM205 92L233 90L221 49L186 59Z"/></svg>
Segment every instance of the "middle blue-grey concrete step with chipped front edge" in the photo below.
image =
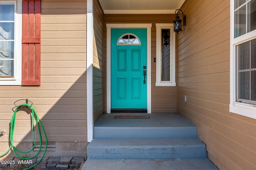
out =
<svg viewBox="0 0 256 170"><path fill-rule="evenodd" d="M206 158L198 138L94 138L88 158Z"/></svg>

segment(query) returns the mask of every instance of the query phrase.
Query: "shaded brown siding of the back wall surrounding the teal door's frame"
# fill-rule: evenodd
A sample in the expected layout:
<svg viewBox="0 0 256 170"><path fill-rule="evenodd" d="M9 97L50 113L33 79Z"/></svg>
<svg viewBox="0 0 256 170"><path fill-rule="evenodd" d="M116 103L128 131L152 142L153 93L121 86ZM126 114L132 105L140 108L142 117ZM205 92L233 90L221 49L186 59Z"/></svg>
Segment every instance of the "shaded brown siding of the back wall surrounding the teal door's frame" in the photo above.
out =
<svg viewBox="0 0 256 170"><path fill-rule="evenodd" d="M175 15L114 15L106 14L104 16L105 27L105 45L106 45L106 23L152 23L152 44L151 44L151 61L152 61L152 113L174 113L176 112L176 87L156 86L156 23L172 23L171 18ZM106 47L106 46L105 46ZM104 53L106 56L106 52ZM105 63L106 66L106 63ZM106 74L105 74L106 77ZM105 79L106 80L106 79ZM106 84L105 84L106 87ZM106 94L106 90L105 90ZM106 96L105 96L106 101ZM105 103L106 111L106 103Z"/></svg>

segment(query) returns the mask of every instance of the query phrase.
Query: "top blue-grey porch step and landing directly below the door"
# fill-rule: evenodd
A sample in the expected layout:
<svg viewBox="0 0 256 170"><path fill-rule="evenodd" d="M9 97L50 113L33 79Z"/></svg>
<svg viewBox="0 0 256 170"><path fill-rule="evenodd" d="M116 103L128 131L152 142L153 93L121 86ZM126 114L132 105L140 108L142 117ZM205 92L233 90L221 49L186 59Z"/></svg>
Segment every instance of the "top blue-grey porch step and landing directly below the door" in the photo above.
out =
<svg viewBox="0 0 256 170"><path fill-rule="evenodd" d="M148 119L115 119L102 115L94 124L94 138L197 137L195 125L178 114L150 114Z"/></svg>

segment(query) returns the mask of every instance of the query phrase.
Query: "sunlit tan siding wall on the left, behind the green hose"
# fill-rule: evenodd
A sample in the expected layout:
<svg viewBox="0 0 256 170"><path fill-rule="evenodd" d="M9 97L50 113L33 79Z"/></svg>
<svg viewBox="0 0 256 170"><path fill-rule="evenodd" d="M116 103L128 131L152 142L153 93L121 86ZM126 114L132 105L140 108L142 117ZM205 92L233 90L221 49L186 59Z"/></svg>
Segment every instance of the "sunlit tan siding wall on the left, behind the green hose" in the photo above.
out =
<svg viewBox="0 0 256 170"><path fill-rule="evenodd" d="M41 85L0 86L0 129L7 131L1 146L8 142L13 103L26 98L33 102L48 141L87 141L86 0L41 0L41 4ZM27 135L30 122L24 119L30 117L20 113L14 141L32 141ZM0 154L7 149L0 147Z"/></svg>

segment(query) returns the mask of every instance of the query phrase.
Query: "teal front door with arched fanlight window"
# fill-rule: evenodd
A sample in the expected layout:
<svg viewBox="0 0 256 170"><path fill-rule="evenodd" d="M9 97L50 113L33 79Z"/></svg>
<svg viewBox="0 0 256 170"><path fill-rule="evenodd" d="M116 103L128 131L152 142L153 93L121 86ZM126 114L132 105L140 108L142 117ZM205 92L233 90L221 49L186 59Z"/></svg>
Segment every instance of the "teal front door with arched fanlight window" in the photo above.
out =
<svg viewBox="0 0 256 170"><path fill-rule="evenodd" d="M111 108L147 108L147 29L111 29Z"/></svg>

